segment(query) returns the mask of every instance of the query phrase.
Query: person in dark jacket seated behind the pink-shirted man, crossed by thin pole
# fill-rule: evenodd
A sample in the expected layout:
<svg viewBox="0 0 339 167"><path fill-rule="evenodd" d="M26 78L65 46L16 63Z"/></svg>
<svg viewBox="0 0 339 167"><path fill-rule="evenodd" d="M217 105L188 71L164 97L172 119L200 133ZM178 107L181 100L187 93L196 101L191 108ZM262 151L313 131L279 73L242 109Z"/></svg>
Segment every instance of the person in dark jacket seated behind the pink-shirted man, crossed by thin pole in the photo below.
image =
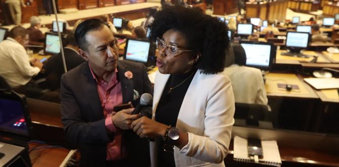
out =
<svg viewBox="0 0 339 167"><path fill-rule="evenodd" d="M66 37L66 47L64 48L67 71L75 68L85 60L79 55L79 48L74 38L74 31L70 31ZM60 89L60 78L65 73L61 53L52 56L44 64L46 74L46 84L48 89Z"/></svg>

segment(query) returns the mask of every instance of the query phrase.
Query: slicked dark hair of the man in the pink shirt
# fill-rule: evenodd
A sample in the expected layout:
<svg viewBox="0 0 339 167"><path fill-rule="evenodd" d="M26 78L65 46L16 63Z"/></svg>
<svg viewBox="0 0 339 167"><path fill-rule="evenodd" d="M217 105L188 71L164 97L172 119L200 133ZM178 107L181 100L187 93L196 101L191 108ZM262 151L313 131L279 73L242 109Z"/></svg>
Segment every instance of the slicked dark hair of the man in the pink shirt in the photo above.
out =
<svg viewBox="0 0 339 167"><path fill-rule="evenodd" d="M81 22L75 29L75 40L80 49L88 51L88 41L86 34L90 31L100 30L105 23L99 19L88 19Z"/></svg>

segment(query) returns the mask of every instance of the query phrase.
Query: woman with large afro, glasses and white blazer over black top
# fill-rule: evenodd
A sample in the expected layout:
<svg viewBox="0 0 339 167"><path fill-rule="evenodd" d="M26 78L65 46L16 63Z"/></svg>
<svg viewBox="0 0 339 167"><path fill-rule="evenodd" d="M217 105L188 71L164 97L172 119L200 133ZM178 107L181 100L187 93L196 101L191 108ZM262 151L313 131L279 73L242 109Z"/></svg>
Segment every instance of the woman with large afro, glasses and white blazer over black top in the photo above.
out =
<svg viewBox="0 0 339 167"><path fill-rule="evenodd" d="M159 50L153 118L141 117L131 128L155 139L152 166L224 166L234 123L231 82L218 73L229 45L226 25L175 6L158 12L150 28Z"/></svg>

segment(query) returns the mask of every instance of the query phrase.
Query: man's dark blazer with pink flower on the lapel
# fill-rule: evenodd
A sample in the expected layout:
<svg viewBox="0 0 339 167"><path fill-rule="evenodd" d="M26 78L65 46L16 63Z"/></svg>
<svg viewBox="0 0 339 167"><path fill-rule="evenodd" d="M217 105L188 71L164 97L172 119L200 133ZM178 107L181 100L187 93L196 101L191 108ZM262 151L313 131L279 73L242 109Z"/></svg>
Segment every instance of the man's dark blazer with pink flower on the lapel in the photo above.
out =
<svg viewBox="0 0 339 167"><path fill-rule="evenodd" d="M134 106L133 90L153 94L146 67L141 63L118 60L118 79L122 89L122 103L131 101ZM124 76L133 73L132 79ZM105 118L88 62L82 63L61 76L61 113L65 136L78 146L80 166L105 166L106 145L112 141L105 127ZM122 145L131 159L128 166L149 166L148 142L141 140L132 130L123 131Z"/></svg>

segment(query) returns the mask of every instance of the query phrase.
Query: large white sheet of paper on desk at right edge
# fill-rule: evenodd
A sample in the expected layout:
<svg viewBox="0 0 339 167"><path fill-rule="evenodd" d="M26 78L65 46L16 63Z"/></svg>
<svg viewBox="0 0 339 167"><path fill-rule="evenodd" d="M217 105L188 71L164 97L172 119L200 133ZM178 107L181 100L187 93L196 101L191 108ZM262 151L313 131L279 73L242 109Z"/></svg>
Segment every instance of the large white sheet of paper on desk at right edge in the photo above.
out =
<svg viewBox="0 0 339 167"><path fill-rule="evenodd" d="M339 78L304 78L315 89L338 89Z"/></svg>

